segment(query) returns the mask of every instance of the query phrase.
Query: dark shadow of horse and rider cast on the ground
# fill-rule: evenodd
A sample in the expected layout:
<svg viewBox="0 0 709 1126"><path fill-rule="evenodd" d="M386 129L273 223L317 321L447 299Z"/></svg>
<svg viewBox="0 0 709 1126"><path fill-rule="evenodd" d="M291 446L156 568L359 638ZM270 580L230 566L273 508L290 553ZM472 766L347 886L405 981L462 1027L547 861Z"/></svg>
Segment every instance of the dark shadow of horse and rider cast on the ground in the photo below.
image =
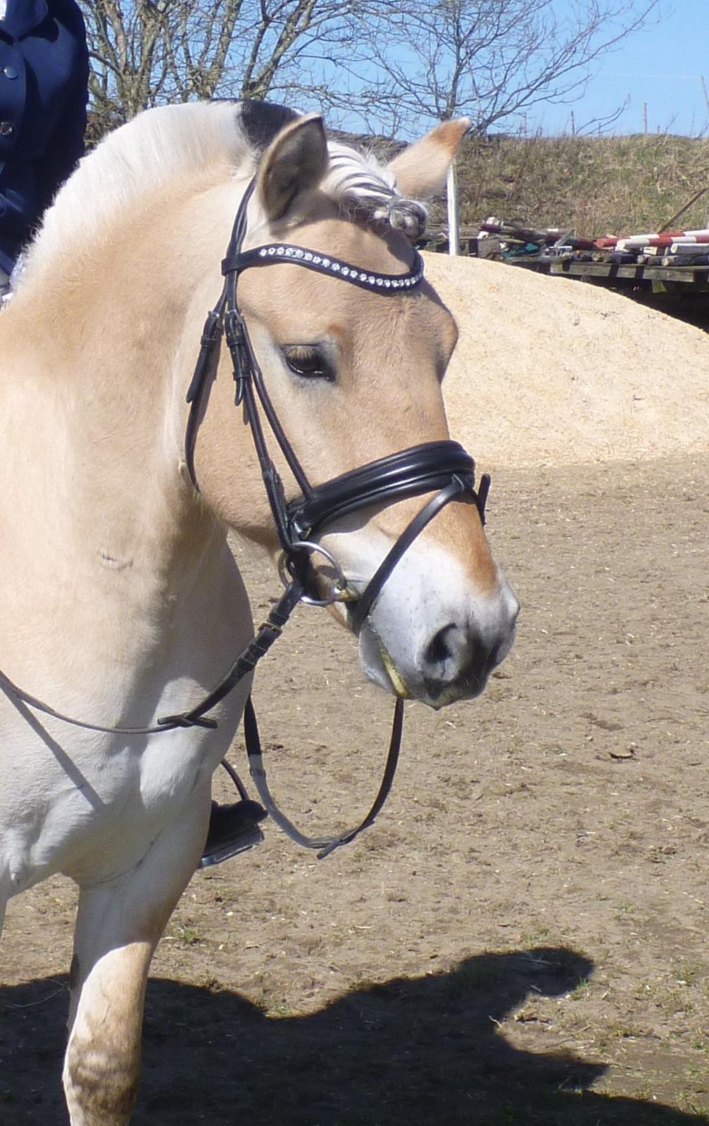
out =
<svg viewBox="0 0 709 1126"><path fill-rule="evenodd" d="M603 1064L530 1053L499 1033L531 994L592 972L564 948L484 954L449 973L353 990L309 1016L268 1017L227 990L148 986L132 1126L690 1126L654 1101L596 1094ZM64 1126L65 978L0 990L0 1121Z"/></svg>

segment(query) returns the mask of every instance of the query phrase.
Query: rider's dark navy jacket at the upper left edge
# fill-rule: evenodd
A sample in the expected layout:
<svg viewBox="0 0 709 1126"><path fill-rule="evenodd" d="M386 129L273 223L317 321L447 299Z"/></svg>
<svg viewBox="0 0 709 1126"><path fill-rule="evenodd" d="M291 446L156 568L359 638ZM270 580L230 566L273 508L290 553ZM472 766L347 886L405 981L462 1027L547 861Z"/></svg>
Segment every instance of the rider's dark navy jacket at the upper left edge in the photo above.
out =
<svg viewBox="0 0 709 1126"><path fill-rule="evenodd" d="M81 157L88 66L74 0L8 0L0 19L0 268L7 274Z"/></svg>

